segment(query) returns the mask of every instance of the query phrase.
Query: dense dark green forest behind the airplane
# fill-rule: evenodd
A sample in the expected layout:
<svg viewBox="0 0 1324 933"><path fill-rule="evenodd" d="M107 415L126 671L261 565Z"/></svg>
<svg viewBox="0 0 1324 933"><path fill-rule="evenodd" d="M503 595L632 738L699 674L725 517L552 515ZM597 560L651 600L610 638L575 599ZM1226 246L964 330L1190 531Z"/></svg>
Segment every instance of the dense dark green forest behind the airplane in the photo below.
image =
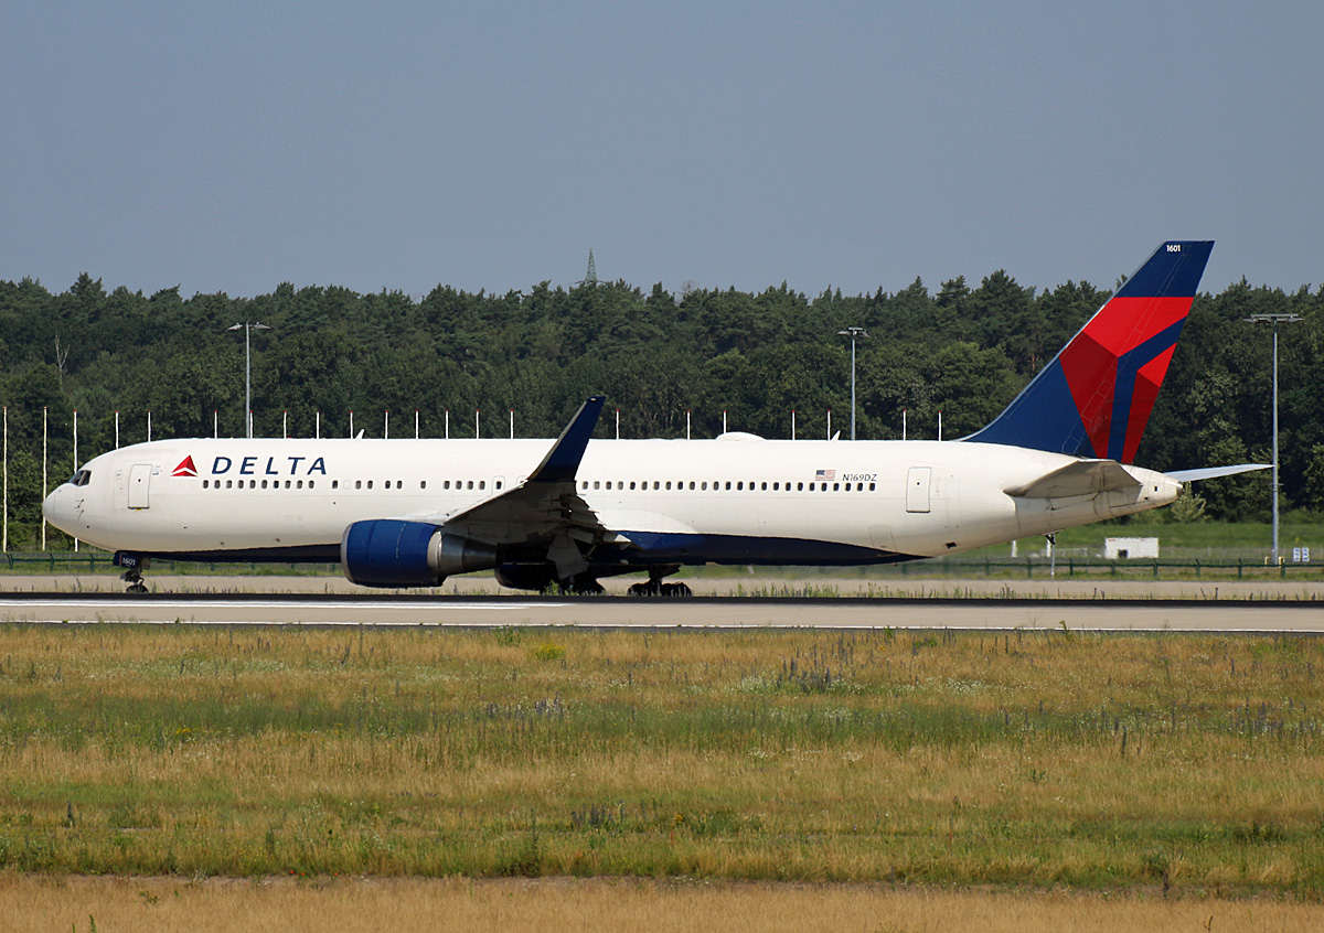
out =
<svg viewBox="0 0 1324 933"><path fill-rule="evenodd" d="M970 287L809 296L624 281L503 295L437 286L428 295L342 287L192 298L82 274L62 292L0 281L0 400L8 417L11 549L40 520L42 410L49 484L115 445L244 434L252 332L254 434L279 437L555 437L589 394L608 397L600 437L695 438L723 429L769 438L850 431L857 345L862 439L963 437L1001 412L1111 291L1087 282L1022 286L1006 271ZM1324 515L1324 287L1245 279L1196 298L1136 462L1157 470L1270 461L1272 332L1279 327L1280 506ZM475 412L478 413L475 416ZM794 412L794 416L792 416ZM449 413L449 416L448 416ZM1200 484L1184 519L1267 520L1268 472Z"/></svg>

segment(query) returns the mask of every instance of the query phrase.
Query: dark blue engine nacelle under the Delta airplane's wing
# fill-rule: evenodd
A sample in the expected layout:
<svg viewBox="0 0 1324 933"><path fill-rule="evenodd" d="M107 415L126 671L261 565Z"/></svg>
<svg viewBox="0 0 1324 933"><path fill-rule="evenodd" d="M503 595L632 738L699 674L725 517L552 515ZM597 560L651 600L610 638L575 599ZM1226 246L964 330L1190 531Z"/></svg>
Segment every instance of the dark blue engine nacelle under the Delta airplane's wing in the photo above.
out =
<svg viewBox="0 0 1324 933"><path fill-rule="evenodd" d="M340 539L340 568L360 586L436 586L453 573L496 566L490 544L426 521L355 521Z"/></svg>

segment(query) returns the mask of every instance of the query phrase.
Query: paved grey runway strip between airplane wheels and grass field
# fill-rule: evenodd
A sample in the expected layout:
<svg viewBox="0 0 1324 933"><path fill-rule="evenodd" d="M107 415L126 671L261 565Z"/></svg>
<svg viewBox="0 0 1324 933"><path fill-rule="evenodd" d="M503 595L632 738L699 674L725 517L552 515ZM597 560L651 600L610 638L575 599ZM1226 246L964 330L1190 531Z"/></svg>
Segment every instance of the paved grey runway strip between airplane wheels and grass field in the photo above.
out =
<svg viewBox="0 0 1324 933"><path fill-rule="evenodd" d="M594 629L978 629L1324 633L1324 603L1005 598L516 598L346 594L3 593L0 621Z"/></svg>

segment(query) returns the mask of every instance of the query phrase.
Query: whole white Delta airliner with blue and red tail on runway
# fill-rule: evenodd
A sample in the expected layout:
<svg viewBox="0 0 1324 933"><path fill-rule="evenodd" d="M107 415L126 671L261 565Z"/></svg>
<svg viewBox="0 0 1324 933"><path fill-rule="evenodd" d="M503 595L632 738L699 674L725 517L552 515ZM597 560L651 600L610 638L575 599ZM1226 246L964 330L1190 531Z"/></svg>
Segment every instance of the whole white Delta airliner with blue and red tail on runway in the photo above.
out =
<svg viewBox="0 0 1324 933"><path fill-rule="evenodd" d="M339 562L372 588L493 570L508 588L686 596L681 566L871 565L957 555L1143 512L1182 483L1132 465L1211 241L1168 241L1010 405L959 441L591 439L588 398L555 441L152 441L87 461L42 504L115 552Z"/></svg>

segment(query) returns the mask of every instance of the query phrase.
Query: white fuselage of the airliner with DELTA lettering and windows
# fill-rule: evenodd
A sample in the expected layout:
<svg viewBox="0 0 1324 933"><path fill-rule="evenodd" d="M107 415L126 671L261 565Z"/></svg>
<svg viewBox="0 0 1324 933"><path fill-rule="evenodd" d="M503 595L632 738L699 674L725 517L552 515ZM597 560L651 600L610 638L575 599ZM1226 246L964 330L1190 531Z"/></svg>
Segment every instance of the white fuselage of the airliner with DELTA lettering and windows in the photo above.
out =
<svg viewBox="0 0 1324 933"><path fill-rule="evenodd" d="M89 461L85 484L58 487L45 515L110 551L332 553L354 521L424 516L444 524L510 491L551 443L158 441ZM592 441L575 487L626 544L699 536L688 539L699 544L682 561L691 564L960 553L1155 508L1180 491L1162 474L1127 467L1137 490L1064 499L1005 492L1072 462L952 441ZM710 539L723 547L704 553ZM805 543L800 551L797 543Z"/></svg>

